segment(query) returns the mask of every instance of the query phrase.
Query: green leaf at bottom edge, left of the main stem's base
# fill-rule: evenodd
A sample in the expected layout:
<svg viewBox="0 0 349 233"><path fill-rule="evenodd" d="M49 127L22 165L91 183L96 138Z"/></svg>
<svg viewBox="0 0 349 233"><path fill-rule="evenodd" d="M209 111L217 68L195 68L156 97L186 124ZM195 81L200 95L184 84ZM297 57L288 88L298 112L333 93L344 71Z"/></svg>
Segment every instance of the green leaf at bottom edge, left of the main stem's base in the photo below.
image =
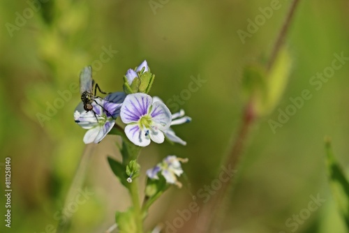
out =
<svg viewBox="0 0 349 233"><path fill-rule="evenodd" d="M115 213L115 221L119 229L119 233L137 233L137 225L135 223L135 213L133 208L129 208L125 212Z"/></svg>

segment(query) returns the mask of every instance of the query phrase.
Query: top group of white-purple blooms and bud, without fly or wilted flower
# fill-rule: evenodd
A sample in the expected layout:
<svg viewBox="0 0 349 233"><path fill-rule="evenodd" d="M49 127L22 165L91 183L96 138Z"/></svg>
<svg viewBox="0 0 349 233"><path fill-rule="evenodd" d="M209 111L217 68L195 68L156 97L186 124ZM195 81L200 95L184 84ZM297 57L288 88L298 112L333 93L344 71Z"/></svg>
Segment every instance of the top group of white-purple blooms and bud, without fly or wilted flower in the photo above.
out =
<svg viewBox="0 0 349 233"><path fill-rule="evenodd" d="M128 139L137 146L148 146L151 141L163 143L165 138L170 142L185 145L170 126L191 121L190 117L184 116L184 111L171 114L163 101L147 93L140 91L140 87L149 87L154 75L149 73L147 61L140 66L129 69L125 75L126 92L114 92L105 98L95 97L91 103L92 110L84 110L83 103L77 105L74 112L75 122L87 133L84 135L84 143L99 143L110 132L117 117L126 124L125 133ZM147 79L153 77L153 79ZM138 80L137 82L135 80ZM145 82L143 82L145 80ZM128 93L128 94L127 94Z"/></svg>

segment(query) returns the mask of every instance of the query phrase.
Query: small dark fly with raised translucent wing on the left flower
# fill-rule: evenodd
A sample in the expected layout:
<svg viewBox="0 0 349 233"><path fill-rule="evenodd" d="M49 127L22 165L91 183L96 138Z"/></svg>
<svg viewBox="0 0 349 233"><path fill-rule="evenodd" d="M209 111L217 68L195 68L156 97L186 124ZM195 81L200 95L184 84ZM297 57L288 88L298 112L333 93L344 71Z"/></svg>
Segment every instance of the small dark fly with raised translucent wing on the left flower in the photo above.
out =
<svg viewBox="0 0 349 233"><path fill-rule="evenodd" d="M84 67L80 73L80 93L81 93L82 103L84 103L84 110L86 112L89 112L89 111L94 112L94 106L92 106L92 103L94 103L94 102L97 105L101 106L103 108L103 110L105 110L105 108L102 105L100 105L99 103L97 103L97 101L95 100L96 98L101 98L99 96L96 96L97 89L99 92L101 92L103 94L109 94L109 93L102 91L97 83L95 84L94 80L92 79L91 66ZM105 112L110 114L110 112L108 112L107 110L105 110ZM96 117L96 112L94 112L94 116ZM112 116L112 114L110 114L110 116ZM96 119L97 119L97 117L96 117ZM98 121L98 119L97 119L97 121Z"/></svg>

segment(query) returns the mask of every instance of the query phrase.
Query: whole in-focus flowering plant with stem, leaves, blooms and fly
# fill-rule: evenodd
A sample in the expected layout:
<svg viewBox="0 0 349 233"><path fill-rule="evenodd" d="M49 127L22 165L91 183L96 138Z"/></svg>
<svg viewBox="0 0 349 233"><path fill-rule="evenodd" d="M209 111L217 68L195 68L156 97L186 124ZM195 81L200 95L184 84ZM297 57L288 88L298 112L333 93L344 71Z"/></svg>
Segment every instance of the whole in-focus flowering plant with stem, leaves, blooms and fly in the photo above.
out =
<svg viewBox="0 0 349 233"><path fill-rule="evenodd" d="M144 202L140 204L140 149L151 141L160 144L168 140L186 145L171 127L191 121L184 110L172 114L160 98L149 96L154 78L147 61L143 61L135 69L127 70L123 91L105 93L92 79L91 66L83 68L80 74L82 102L75 108L74 119L77 125L87 130L84 143L99 143L107 134L119 135L122 140L121 146L118 145L122 160L107 158L112 172L128 188L133 202L129 209L117 211L115 215L119 232L130 232L130 229L133 229L132 232L144 232L142 222L149 207L171 185L182 186L178 181L178 177L184 173L181 164L188 161L188 158L167 156L147 170L149 179L146 179L144 186ZM96 96L97 90L106 96ZM118 117L121 122L117 122Z"/></svg>

